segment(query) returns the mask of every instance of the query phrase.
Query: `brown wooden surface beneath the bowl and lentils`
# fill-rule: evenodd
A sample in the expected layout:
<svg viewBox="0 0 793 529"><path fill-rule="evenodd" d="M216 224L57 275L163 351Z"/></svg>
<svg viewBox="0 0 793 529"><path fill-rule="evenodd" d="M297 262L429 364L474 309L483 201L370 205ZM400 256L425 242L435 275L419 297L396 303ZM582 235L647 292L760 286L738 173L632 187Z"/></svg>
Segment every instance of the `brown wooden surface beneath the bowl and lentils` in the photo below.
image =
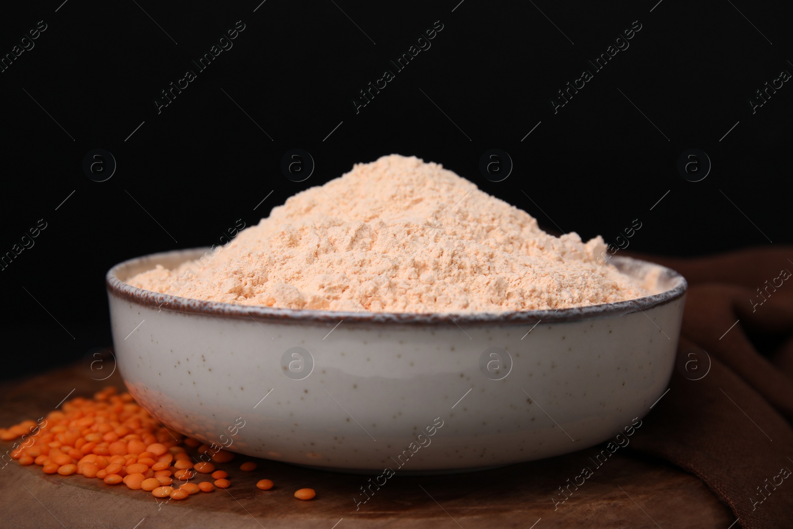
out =
<svg viewBox="0 0 793 529"><path fill-rule="evenodd" d="M54 370L0 385L0 425L36 420L71 397L90 397L105 385L123 387L118 374L105 381L85 366ZM71 398L70 397L70 398ZM0 442L0 451L12 443ZM353 496L369 476L307 470L255 460L259 468L242 472L251 460L238 455L219 465L232 487L198 493L186 500L158 504L154 496L125 485L105 485L79 475L48 475L40 466L0 466L2 527L726 527L734 516L699 479L630 448L618 450L595 470L564 504L554 508L558 487L573 480L594 447L537 462L477 473L404 477L399 473L356 511ZM7 458L5 458L7 461ZM275 482L261 491L255 482ZM293 492L316 489L301 501ZM536 525L534 525L536 524Z"/></svg>

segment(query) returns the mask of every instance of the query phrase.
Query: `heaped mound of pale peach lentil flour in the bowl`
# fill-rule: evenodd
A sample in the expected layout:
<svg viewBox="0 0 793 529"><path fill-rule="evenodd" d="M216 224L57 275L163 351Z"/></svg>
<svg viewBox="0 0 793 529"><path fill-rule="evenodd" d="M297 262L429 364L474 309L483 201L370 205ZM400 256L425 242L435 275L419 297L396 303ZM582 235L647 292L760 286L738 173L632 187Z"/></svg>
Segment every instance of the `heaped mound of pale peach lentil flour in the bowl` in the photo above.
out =
<svg viewBox="0 0 793 529"><path fill-rule="evenodd" d="M390 155L289 197L200 261L128 282L240 305L372 312L558 309L648 295L598 266L605 249L600 236L543 232L438 163Z"/></svg>

